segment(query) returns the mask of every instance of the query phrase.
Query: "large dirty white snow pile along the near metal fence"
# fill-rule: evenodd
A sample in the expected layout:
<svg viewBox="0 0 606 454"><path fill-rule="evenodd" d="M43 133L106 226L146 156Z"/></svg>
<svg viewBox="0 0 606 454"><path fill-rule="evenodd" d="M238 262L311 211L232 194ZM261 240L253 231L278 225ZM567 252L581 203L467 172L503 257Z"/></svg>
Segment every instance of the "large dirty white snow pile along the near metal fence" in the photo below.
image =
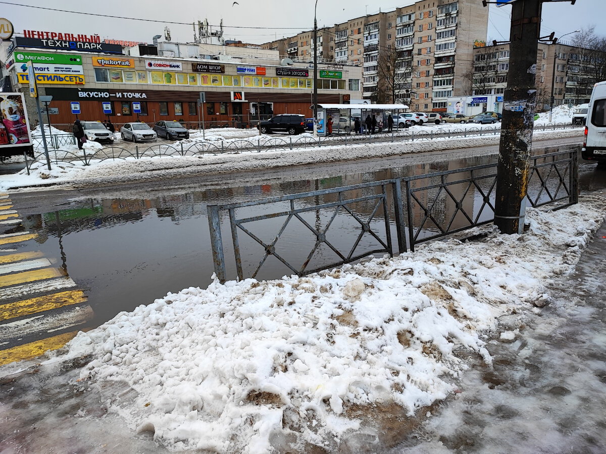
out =
<svg viewBox="0 0 606 454"><path fill-rule="evenodd" d="M605 208L603 196L582 197L528 209L522 235L485 226L478 242L169 293L79 333L48 363L91 355L81 389L127 383L136 397L112 395L109 411L171 449L283 452L296 438L299 452L335 450L361 426L352 406L413 413L458 390L468 355L490 367L488 336L511 336L496 318L541 311L546 283L574 268Z"/></svg>

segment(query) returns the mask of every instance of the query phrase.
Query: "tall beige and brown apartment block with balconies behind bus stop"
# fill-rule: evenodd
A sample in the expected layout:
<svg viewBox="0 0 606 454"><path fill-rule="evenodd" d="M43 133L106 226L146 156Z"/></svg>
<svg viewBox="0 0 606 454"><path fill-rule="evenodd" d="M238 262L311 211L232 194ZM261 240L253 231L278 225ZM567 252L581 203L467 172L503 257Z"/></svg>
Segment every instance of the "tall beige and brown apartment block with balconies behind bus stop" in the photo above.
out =
<svg viewBox="0 0 606 454"><path fill-rule="evenodd" d="M488 8L477 0L422 0L318 30L318 58L362 65L365 99L445 111L448 97L469 94L474 42L484 41L487 30ZM261 47L280 52L284 47L289 56L311 61L313 48L300 45L308 35L313 40L313 31L305 31ZM398 83L386 90L381 54L390 52L396 54Z"/></svg>

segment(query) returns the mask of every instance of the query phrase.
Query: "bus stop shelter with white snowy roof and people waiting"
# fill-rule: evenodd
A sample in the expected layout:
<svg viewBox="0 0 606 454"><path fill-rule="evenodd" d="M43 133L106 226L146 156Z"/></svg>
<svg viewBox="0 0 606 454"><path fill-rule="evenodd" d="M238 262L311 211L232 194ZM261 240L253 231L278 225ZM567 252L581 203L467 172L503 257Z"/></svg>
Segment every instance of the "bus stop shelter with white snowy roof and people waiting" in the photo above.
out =
<svg viewBox="0 0 606 454"><path fill-rule="evenodd" d="M313 110L313 105L311 106ZM360 125L362 130L365 128L364 120L370 115L381 114L381 117L385 117L385 114L397 114L399 111L408 110L408 106L405 104L318 104L318 136L326 136L328 134L326 122L328 118L333 119L333 133L344 132L341 128L335 128L334 124L341 125L341 122L335 122L335 119L345 117L347 119L348 129L345 132L353 130L353 122L356 117L359 117ZM347 111L347 113L343 113ZM397 126L396 126L397 127ZM387 128L387 125L385 125Z"/></svg>

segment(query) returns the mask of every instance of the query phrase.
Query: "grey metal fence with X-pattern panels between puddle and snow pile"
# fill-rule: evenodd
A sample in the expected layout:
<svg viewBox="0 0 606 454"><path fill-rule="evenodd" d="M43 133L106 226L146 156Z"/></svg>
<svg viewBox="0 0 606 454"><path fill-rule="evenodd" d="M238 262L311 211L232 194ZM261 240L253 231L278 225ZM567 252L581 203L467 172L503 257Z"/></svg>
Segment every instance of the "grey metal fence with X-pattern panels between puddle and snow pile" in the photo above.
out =
<svg viewBox="0 0 606 454"><path fill-rule="evenodd" d="M222 214L228 216L228 246L233 248L239 280L258 277L270 258L294 274L308 275L368 255L393 256L392 229L401 253L408 249L414 252L418 243L493 222L496 168L494 163L251 202L209 205L216 277L221 282L227 280ZM552 204L554 209L577 203L578 150L531 157L526 200L533 207ZM261 211L264 212L259 214ZM268 224L275 229L270 230ZM307 243L301 240L305 235L311 235ZM242 246L242 239L248 249ZM302 263L295 263L296 257L289 258L288 254L293 248L302 250L304 244L309 252L304 254ZM318 254L321 248L324 252ZM254 269L249 267L251 271L245 272L248 263L242 257L254 255L254 249L259 249L257 255L261 258ZM329 259L311 266L317 255ZM334 257L331 260L330 255Z"/></svg>

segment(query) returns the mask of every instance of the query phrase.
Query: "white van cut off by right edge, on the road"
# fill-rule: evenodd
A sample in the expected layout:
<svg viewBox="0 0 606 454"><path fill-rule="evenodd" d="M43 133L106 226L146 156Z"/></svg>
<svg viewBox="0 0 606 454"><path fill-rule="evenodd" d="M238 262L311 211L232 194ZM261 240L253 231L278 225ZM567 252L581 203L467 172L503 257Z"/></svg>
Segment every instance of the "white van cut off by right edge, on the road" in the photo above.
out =
<svg viewBox="0 0 606 454"><path fill-rule="evenodd" d="M600 166L606 164L606 81L593 86L581 156L584 160L597 162Z"/></svg>

